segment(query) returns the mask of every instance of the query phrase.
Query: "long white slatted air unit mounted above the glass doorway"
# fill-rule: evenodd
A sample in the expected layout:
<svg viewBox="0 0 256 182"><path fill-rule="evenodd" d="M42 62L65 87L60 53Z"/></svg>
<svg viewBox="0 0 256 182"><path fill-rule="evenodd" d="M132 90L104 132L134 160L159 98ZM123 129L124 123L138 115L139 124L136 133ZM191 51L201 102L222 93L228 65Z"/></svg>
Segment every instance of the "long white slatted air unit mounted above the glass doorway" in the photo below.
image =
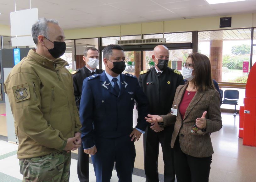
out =
<svg viewBox="0 0 256 182"><path fill-rule="evenodd" d="M166 43L166 38L134 39L134 40L115 41L115 44L118 44L118 45L165 44L165 43Z"/></svg>

